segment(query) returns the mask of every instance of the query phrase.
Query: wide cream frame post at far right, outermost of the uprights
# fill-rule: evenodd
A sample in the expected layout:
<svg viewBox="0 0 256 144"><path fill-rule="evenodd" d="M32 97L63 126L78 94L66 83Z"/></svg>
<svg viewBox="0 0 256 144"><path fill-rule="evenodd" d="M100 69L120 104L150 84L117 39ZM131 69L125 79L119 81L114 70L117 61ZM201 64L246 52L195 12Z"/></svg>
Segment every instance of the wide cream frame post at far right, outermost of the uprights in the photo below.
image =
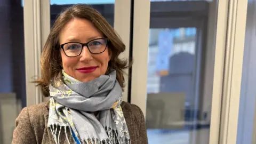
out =
<svg viewBox="0 0 256 144"><path fill-rule="evenodd" d="M236 143L246 28L247 0L229 1L223 77L220 143Z"/></svg>

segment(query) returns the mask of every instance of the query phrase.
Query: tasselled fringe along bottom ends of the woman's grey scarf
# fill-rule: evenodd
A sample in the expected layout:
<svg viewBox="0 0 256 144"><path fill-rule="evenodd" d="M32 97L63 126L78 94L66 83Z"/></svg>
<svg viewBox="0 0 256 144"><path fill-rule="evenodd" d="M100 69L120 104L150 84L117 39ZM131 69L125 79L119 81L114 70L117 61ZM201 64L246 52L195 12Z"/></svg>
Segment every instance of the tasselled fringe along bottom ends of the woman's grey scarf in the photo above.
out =
<svg viewBox="0 0 256 144"><path fill-rule="evenodd" d="M68 139L68 134L67 134L67 129L69 129L70 134L71 134L70 126L67 126L67 125L61 126L58 123L51 124L49 126L49 129L52 132L53 139L56 144L60 144L60 133L61 133L61 130L63 130L62 128L65 130L66 139L67 139L68 143L70 144L70 141ZM125 137L124 135L122 135L122 137L118 137L117 136L118 132L115 130L111 130L110 127L105 127L105 130L110 139L100 140L98 138L88 138L88 139L84 139L82 143L83 144L130 144L131 143L131 140L129 138ZM74 138L73 138L73 140L75 142Z"/></svg>

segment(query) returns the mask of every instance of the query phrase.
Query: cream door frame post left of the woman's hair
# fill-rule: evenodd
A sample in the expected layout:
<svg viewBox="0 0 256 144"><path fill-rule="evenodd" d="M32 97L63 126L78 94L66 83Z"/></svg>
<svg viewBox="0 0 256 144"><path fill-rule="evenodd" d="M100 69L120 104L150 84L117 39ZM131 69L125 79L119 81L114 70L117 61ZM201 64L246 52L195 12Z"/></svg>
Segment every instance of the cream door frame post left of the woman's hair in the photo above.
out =
<svg viewBox="0 0 256 144"><path fill-rule="evenodd" d="M25 0L23 11L27 106L31 106L42 102L42 93L32 82L41 73L39 61L42 47L50 31L50 1Z"/></svg>

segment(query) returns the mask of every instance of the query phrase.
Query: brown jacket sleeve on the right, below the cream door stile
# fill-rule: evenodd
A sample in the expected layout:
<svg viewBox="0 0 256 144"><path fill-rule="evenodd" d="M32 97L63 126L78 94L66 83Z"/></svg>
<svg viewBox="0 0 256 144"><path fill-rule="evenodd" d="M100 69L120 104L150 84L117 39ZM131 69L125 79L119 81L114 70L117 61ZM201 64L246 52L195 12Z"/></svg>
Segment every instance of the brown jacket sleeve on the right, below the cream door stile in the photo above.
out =
<svg viewBox="0 0 256 144"><path fill-rule="evenodd" d="M144 118L144 115L142 113L142 110L138 106L136 106L136 107L140 111L140 115L139 115L139 118L138 118L138 119L140 119L140 123L139 123L139 127L140 127L139 128L139 139L140 139L140 142L142 144L148 144L148 136L147 136L145 118Z"/></svg>

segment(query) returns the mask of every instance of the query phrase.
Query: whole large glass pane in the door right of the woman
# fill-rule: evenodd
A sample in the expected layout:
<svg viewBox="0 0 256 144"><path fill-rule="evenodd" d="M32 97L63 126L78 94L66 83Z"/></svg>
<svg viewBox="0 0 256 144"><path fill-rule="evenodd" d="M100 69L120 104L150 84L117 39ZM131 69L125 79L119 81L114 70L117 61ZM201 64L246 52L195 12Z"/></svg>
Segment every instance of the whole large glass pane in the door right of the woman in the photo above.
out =
<svg viewBox="0 0 256 144"><path fill-rule="evenodd" d="M198 2L155 1L151 0L148 47L149 143L209 143L213 83L209 69L215 46L206 35L215 35L215 24L208 22L215 20L215 2L200 1L207 6L192 10ZM182 10L175 9L178 6ZM214 9L209 12L208 6Z"/></svg>

